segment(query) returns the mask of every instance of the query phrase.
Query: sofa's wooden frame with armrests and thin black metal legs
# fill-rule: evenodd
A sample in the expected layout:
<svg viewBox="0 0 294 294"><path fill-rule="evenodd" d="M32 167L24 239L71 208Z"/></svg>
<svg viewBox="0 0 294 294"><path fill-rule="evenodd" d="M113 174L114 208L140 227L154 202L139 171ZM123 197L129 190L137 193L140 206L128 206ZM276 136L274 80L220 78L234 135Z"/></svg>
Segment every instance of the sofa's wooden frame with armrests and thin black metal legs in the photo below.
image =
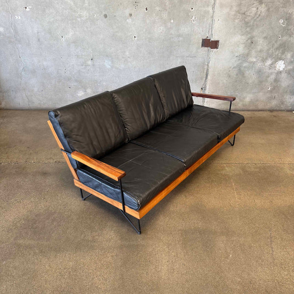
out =
<svg viewBox="0 0 294 294"><path fill-rule="evenodd" d="M192 96L230 101L229 112L231 110L232 101L234 101L236 99L235 97L230 97L230 96L220 96L220 95L211 95L211 94L203 94L203 93L192 93ZM49 124L50 130L51 130L51 132L52 132L52 134L58 144L58 147L61 149L61 151L63 151L62 152L63 156L67 162L69 169L71 170L71 172L73 174L74 185L77 186L78 188L80 188L82 200L85 200L87 197L94 195L94 196L110 203L111 205L117 207L123 213L125 218L130 222L130 224L132 225L132 227L136 230L136 232L138 234L141 234L140 219L142 219L147 214L148 211L150 211L157 203L159 203L165 196L167 196L178 184L180 184L186 177L188 177L192 172L194 172L196 170L196 168L198 168L206 159L208 159L212 154L214 154L222 145L224 145L232 137L234 137L233 143L231 143L230 141L229 141L229 143L231 144L231 146L234 146L235 136L240 131L240 126L239 126L236 130L234 130L226 138L222 139L215 147L211 148L207 153L205 153L201 158L199 158L190 168L188 168L179 177L177 177L174 181L172 181L172 183L169 184L165 189L163 189L161 192L159 192L145 206L141 207L139 210L134 210L134 209L131 209L131 208L124 205L121 179L126 175L126 173L123 172L122 170L119 170L115 167L112 167L106 163L103 163L97 159L91 158L91 157L84 155L80 152L73 151L72 153L69 153L69 152L65 151L60 140L57 137L57 134L52 126L52 123L50 121L48 121L48 124ZM78 176L77 176L76 170L73 169L71 162L70 162L70 159L66 153L70 154L72 156L72 158L75 159L76 161L83 163L83 164L89 166L90 168L92 168L98 172L101 172L116 181L119 181L120 187L121 187L121 192L122 192L122 202L111 199L111 198L95 191L94 189L84 185L83 183L81 183L79 181ZM84 197L82 194L82 190L87 191L90 194L88 196ZM125 213L133 216L134 218L136 218L138 220L139 229L137 229L134 226L134 224L129 220L129 218L125 215Z"/></svg>

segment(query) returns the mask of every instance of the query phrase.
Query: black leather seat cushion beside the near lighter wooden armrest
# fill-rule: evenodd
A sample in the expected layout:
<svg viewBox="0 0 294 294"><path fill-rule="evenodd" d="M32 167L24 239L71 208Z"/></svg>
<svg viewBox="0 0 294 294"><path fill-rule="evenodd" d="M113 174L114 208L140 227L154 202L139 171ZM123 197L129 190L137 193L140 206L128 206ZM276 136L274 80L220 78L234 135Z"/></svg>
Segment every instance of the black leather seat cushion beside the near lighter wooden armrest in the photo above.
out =
<svg viewBox="0 0 294 294"><path fill-rule="evenodd" d="M100 161L126 172L122 179L124 202L138 210L185 171L179 160L162 152L127 143ZM77 170L81 183L114 200L121 201L119 182L87 167Z"/></svg>

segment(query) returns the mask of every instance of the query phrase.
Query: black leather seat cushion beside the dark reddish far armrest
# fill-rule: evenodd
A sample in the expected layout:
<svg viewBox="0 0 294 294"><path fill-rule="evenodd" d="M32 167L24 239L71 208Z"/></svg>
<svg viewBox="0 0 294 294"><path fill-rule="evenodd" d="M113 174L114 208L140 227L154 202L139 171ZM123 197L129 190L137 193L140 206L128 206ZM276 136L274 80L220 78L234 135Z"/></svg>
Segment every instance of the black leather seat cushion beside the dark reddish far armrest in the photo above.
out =
<svg viewBox="0 0 294 294"><path fill-rule="evenodd" d="M244 123L244 116L194 104L170 118L168 122L205 129L214 132L219 136L219 140L222 140Z"/></svg>

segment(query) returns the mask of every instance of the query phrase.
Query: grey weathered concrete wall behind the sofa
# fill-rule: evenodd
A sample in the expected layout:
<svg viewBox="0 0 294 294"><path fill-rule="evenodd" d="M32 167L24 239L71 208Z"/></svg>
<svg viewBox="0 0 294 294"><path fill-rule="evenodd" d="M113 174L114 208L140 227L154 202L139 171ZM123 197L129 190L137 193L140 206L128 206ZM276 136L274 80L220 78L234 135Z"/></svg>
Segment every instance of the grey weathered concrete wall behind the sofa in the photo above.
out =
<svg viewBox="0 0 294 294"><path fill-rule="evenodd" d="M0 107L55 108L183 64L234 110L293 110L293 27L291 0L0 0Z"/></svg>

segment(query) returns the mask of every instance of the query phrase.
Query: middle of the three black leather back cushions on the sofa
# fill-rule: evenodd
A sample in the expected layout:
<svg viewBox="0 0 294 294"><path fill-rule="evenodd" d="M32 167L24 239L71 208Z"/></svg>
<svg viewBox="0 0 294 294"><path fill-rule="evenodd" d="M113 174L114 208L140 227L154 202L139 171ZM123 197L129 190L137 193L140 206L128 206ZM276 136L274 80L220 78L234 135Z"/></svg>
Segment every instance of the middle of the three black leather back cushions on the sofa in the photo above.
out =
<svg viewBox="0 0 294 294"><path fill-rule="evenodd" d="M153 80L145 77L111 91L129 140L133 140L165 120L164 110Z"/></svg>

